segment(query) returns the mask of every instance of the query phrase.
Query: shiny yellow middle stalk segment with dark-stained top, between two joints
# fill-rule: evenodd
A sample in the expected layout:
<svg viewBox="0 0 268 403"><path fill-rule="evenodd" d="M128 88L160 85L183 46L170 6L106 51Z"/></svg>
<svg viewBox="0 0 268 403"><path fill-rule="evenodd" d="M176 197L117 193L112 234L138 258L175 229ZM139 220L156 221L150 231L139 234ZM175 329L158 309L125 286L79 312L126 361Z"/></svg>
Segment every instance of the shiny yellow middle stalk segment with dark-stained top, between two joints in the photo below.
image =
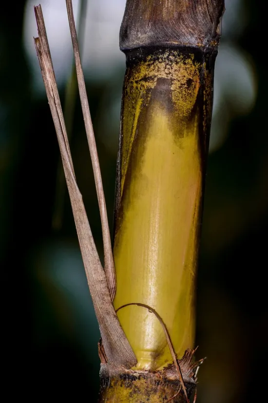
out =
<svg viewBox="0 0 268 403"><path fill-rule="evenodd" d="M178 358L194 345L210 63L194 49L134 50L127 53L123 89L114 306L153 307ZM137 357L136 369L172 363L162 327L150 311L131 306L118 317Z"/></svg>

